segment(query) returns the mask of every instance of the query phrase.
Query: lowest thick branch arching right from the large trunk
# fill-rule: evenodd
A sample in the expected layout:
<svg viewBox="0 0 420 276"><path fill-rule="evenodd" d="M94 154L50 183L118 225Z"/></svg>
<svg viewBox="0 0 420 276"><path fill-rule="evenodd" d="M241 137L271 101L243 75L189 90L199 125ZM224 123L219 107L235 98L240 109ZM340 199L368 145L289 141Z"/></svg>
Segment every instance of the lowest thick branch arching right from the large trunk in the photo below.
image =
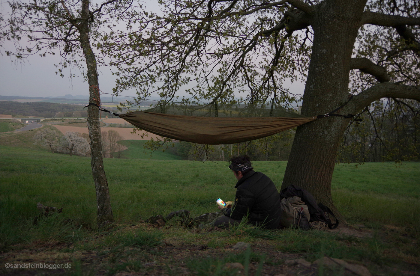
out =
<svg viewBox="0 0 420 276"><path fill-rule="evenodd" d="M413 99L420 102L419 87L391 82L378 83L353 97L354 111L381 98Z"/></svg>

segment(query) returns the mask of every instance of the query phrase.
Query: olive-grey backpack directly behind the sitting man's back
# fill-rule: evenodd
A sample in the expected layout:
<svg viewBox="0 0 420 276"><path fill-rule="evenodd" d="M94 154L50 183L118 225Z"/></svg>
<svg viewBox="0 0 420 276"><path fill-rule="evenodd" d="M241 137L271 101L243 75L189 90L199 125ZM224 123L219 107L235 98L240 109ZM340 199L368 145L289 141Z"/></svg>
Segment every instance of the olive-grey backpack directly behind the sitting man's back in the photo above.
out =
<svg viewBox="0 0 420 276"><path fill-rule="evenodd" d="M298 227L309 230L310 214L308 206L297 196L283 198L280 203L281 219L283 227Z"/></svg>

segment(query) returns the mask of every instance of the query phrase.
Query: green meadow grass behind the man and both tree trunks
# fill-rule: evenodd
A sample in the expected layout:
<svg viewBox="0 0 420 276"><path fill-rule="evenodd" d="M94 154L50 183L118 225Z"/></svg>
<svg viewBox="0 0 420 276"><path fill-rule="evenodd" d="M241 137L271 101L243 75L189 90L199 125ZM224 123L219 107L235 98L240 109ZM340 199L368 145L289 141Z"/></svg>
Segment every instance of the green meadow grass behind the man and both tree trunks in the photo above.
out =
<svg viewBox="0 0 420 276"><path fill-rule="evenodd" d="M1 155L2 198L4 194L21 203L32 201L32 206L38 201L52 206L69 206L75 215L80 207L74 202L84 202L83 205L94 212L95 189L89 158L6 146L2 146ZM195 215L215 211L215 198L231 200L235 193L235 181L226 165L227 162L104 159L114 214L119 221L135 221L185 208ZM268 174L280 188L286 162L256 161L254 167ZM355 188L358 183L349 180L349 176L361 181L369 175L374 180L363 182L362 191ZM414 210L398 209L395 217L390 216L394 211L386 210L386 214L376 220L393 223L392 220L398 222L404 214L412 214L414 219L417 217L414 223L418 224L418 179L418 162L401 167L366 163L357 169L353 164L346 164L338 166L334 172L332 188L339 209L354 220L375 219L369 213L384 209L383 205L379 205L378 210L371 206L364 212L359 206L364 204L365 197L386 200L390 204L404 198L405 204L415 204ZM394 185L395 181L398 185ZM29 193L32 189L33 194ZM131 211L127 212L127 209ZM28 214L35 213L34 209Z"/></svg>

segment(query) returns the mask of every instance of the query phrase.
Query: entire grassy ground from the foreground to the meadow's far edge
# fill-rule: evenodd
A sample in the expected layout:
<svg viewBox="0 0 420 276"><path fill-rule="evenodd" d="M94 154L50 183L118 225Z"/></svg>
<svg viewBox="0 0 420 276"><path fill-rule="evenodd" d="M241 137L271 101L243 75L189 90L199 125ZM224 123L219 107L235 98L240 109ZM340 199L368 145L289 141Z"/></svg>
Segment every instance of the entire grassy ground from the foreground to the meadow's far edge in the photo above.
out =
<svg viewBox="0 0 420 276"><path fill-rule="evenodd" d="M1 146L2 275L342 275L342 268L285 263L298 258L312 262L323 256L362 264L373 275L418 275L418 162L336 165L334 202L352 231L360 235L294 229L270 232L247 226L205 231L185 228L178 218L156 228L142 221L180 209L192 216L217 211L214 199L232 199L236 180L227 162L173 160L168 152L134 159L144 155L142 145L124 142L129 146L126 157L131 159L104 159L117 226L110 232L95 230L89 158ZM280 188L286 162L253 165ZM63 213L34 224L38 202L64 207ZM251 250L232 250L239 241L251 244ZM70 262L73 268L11 271L3 266L28 259ZM225 266L235 262L244 269Z"/></svg>

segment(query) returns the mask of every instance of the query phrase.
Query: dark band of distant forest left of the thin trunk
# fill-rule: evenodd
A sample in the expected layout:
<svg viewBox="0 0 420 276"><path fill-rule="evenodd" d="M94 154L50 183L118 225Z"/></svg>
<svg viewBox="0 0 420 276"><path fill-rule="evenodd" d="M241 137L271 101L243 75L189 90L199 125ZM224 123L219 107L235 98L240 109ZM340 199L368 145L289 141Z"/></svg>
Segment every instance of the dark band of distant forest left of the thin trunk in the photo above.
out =
<svg viewBox="0 0 420 276"><path fill-rule="evenodd" d="M87 117L87 108L76 104L52 102L0 102L0 114L34 117ZM106 113L108 117L116 117Z"/></svg>

